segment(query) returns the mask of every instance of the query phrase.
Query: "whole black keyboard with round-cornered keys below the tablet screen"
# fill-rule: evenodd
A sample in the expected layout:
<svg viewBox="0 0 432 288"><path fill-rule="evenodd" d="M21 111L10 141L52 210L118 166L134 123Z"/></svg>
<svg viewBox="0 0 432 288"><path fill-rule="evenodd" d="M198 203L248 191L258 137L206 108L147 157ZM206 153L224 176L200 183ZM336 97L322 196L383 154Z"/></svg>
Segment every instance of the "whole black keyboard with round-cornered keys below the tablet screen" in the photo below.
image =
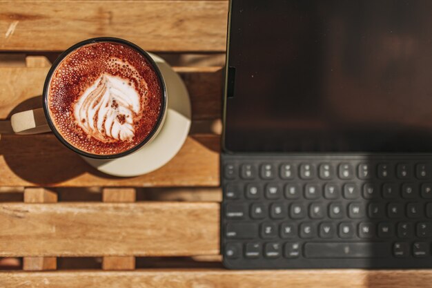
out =
<svg viewBox="0 0 432 288"><path fill-rule="evenodd" d="M432 267L432 155L222 154L231 269Z"/></svg>

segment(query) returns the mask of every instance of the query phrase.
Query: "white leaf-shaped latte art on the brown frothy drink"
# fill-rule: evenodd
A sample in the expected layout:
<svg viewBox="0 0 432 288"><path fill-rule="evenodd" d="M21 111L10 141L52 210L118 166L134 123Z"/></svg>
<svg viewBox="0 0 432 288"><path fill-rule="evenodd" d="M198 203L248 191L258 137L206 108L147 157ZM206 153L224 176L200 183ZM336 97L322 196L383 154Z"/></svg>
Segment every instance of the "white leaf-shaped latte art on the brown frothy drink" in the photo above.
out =
<svg viewBox="0 0 432 288"><path fill-rule="evenodd" d="M120 77L101 75L75 104L78 125L102 142L132 140L133 119L140 111L140 96L133 86Z"/></svg>

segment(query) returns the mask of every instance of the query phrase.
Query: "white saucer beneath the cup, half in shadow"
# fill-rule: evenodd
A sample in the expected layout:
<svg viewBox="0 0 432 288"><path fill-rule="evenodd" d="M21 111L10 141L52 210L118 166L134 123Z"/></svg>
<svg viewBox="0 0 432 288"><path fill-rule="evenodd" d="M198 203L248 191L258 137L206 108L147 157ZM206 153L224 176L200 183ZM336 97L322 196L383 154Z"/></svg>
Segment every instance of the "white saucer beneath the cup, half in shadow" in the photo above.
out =
<svg viewBox="0 0 432 288"><path fill-rule="evenodd" d="M168 99L167 114L159 134L135 153L114 160L83 157L103 173L132 177L150 173L164 166L179 152L190 128L190 99L183 81L164 59L150 54L161 70Z"/></svg>

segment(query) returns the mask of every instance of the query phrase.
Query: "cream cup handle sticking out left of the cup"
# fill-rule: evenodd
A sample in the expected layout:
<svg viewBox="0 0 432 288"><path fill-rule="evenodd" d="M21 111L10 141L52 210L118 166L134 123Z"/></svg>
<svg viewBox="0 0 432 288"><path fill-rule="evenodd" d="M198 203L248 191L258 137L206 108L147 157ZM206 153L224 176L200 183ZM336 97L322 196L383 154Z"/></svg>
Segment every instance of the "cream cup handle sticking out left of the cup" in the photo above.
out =
<svg viewBox="0 0 432 288"><path fill-rule="evenodd" d="M15 113L10 117L10 125L15 134L30 135L50 132L43 108Z"/></svg>

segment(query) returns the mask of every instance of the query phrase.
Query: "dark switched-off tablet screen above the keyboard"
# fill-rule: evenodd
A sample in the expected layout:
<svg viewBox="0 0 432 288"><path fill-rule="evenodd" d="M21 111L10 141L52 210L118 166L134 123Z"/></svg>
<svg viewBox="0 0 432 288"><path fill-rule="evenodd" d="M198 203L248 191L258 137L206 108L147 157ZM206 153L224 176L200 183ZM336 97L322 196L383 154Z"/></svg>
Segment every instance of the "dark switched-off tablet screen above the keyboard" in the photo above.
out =
<svg viewBox="0 0 432 288"><path fill-rule="evenodd" d="M432 152L432 1L231 5L226 150Z"/></svg>

